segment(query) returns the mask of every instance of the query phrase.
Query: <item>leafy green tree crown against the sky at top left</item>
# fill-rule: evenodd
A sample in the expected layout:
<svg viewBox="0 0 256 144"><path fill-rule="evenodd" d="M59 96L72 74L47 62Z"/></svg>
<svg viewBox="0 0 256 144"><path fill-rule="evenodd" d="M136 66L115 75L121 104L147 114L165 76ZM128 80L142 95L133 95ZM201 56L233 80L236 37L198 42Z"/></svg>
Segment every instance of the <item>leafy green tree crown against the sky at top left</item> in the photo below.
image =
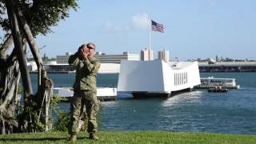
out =
<svg viewBox="0 0 256 144"><path fill-rule="evenodd" d="M0 26L8 32L10 24L6 18L5 1L0 0ZM51 32L51 26L57 26L60 20L69 17L70 9L78 8L77 0L14 0L14 3L22 10L34 36Z"/></svg>

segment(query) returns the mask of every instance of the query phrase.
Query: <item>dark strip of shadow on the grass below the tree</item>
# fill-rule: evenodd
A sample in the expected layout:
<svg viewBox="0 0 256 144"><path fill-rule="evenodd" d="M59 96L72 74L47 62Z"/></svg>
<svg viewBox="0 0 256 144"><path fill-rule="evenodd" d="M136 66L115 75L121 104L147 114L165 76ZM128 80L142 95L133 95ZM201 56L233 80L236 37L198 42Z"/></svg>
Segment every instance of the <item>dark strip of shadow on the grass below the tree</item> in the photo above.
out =
<svg viewBox="0 0 256 144"><path fill-rule="evenodd" d="M62 138L3 138L1 141L2 142L18 142L18 141L34 141L34 142L38 142L38 141L67 141L67 137L62 137ZM79 137L79 139L89 139L88 137ZM0 142L1 142L0 141Z"/></svg>

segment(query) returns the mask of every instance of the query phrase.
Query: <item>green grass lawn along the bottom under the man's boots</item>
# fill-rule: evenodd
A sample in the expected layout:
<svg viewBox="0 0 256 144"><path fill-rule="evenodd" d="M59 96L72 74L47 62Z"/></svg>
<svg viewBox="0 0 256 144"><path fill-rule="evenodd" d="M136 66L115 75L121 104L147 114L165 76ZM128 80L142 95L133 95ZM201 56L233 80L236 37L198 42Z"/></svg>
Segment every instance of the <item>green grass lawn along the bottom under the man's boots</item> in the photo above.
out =
<svg viewBox="0 0 256 144"><path fill-rule="evenodd" d="M256 135L212 134L168 131L100 131L99 140L78 133L76 143L256 143ZM0 143L73 143L67 142L67 132L23 133L0 135Z"/></svg>

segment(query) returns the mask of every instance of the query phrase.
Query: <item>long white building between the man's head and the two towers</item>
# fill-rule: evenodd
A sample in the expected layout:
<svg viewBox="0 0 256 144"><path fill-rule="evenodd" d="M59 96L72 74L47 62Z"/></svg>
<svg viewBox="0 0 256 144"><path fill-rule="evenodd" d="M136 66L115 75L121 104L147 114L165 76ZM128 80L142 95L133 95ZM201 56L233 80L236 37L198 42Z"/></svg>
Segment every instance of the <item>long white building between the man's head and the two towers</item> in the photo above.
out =
<svg viewBox="0 0 256 144"><path fill-rule="evenodd" d="M139 61L138 54L130 54L129 52L123 52L122 54L102 54L102 52L97 52L94 57L101 63L120 63L122 60Z"/></svg>

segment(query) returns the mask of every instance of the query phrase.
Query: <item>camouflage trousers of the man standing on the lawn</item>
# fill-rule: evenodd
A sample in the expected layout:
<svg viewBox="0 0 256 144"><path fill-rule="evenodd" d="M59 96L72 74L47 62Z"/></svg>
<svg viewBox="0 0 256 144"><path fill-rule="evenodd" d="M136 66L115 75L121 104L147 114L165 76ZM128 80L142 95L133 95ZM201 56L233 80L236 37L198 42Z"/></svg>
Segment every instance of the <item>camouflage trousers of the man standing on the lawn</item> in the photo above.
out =
<svg viewBox="0 0 256 144"><path fill-rule="evenodd" d="M98 99L96 91L74 90L74 96L70 103L70 127L69 134L78 132L78 122L81 118L86 106L86 114L83 117L88 120L87 131L89 133L97 132L97 114L98 114Z"/></svg>

